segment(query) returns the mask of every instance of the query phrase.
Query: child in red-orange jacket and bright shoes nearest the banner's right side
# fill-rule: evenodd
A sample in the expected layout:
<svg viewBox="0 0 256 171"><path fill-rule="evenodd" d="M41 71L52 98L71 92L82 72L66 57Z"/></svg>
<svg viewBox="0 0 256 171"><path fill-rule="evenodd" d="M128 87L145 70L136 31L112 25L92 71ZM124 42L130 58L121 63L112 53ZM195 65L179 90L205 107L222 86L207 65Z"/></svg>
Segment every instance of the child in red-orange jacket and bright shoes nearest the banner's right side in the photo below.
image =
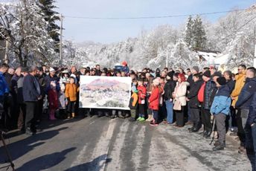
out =
<svg viewBox="0 0 256 171"><path fill-rule="evenodd" d="M143 84L143 80L138 80L138 121L145 120L145 98L147 89Z"/></svg>

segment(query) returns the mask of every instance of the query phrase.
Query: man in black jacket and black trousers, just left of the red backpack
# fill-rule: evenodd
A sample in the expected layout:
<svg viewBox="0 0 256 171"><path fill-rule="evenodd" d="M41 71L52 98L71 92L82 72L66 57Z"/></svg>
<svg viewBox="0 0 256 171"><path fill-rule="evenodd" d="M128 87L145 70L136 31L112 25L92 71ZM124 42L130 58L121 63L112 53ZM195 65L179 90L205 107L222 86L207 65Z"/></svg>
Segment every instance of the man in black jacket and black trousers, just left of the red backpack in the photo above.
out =
<svg viewBox="0 0 256 171"><path fill-rule="evenodd" d="M198 132L202 124L200 123L199 116L199 101L198 101L198 91L202 86L202 80L200 80L199 74L193 74L193 84L191 85L191 90L188 93L188 107L191 108L191 121L193 127L189 128L190 132Z"/></svg>

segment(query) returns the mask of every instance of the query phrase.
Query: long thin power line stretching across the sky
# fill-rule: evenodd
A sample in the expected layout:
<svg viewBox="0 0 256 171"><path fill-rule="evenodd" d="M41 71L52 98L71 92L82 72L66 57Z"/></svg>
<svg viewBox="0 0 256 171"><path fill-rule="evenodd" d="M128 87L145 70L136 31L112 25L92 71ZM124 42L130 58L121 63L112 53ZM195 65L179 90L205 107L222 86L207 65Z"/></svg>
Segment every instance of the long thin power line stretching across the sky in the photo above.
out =
<svg viewBox="0 0 256 171"><path fill-rule="evenodd" d="M241 10L225 10L225 11L217 11L212 13L192 13L192 14L182 14L182 15L170 15L170 16L138 16L138 17L89 17L89 16L65 16L65 18L72 19L164 19L164 18L176 18L176 17L185 17L185 16L208 16L214 15L218 13L231 13L235 11L243 11L248 9Z"/></svg>

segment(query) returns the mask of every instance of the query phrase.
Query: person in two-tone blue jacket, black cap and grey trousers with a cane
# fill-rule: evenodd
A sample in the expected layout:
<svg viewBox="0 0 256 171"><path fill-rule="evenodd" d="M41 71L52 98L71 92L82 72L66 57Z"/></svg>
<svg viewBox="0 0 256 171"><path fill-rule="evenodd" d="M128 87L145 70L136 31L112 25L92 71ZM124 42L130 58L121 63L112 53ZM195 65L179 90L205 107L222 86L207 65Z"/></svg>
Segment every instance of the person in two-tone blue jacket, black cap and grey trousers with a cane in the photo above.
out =
<svg viewBox="0 0 256 171"><path fill-rule="evenodd" d="M211 105L211 114L214 114L219 135L218 141L214 143L214 151L223 150L225 147L225 117L229 114L231 106L230 91L228 86L226 86L225 77L217 78L217 88L217 94Z"/></svg>

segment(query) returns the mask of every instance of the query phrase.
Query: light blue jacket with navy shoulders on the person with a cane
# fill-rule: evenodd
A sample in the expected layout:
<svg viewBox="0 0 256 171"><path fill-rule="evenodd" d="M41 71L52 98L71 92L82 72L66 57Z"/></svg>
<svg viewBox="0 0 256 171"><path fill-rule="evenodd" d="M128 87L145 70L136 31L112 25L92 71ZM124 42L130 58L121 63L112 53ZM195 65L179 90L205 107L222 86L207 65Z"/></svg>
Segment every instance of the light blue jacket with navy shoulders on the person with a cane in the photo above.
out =
<svg viewBox="0 0 256 171"><path fill-rule="evenodd" d="M230 88L224 85L221 86L214 97L214 102L211 105L211 114L228 115L231 106Z"/></svg>

